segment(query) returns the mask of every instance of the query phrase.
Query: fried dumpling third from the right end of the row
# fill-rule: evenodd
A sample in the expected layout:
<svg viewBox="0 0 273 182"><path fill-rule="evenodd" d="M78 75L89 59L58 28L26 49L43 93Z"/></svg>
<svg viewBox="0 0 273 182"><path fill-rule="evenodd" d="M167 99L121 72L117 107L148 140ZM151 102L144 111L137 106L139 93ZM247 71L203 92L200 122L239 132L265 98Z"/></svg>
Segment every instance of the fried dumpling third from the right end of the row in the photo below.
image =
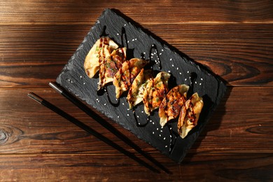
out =
<svg viewBox="0 0 273 182"><path fill-rule="evenodd" d="M166 97L168 89L168 80L171 75L165 71L150 80L144 90L144 111L150 115L155 109L158 109L162 100Z"/></svg>

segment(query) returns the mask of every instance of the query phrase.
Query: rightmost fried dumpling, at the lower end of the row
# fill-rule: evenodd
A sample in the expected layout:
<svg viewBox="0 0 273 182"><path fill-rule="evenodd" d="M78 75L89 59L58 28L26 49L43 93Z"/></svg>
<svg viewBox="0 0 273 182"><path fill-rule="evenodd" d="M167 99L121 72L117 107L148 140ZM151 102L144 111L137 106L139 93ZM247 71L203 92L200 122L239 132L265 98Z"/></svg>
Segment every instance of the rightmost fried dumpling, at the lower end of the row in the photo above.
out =
<svg viewBox="0 0 273 182"><path fill-rule="evenodd" d="M197 125L203 105L204 102L202 97L199 97L198 94L195 93L182 106L179 122L177 124L182 139Z"/></svg>

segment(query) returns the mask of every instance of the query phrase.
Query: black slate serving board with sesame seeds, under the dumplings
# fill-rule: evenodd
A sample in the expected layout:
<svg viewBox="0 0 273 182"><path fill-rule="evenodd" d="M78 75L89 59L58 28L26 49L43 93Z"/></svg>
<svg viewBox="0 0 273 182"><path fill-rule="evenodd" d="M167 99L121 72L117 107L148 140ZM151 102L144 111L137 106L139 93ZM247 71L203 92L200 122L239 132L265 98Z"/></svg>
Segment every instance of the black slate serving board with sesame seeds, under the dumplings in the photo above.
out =
<svg viewBox="0 0 273 182"><path fill-rule="evenodd" d="M204 107L198 125L185 139L177 137L177 119L172 120L168 126L161 127L158 111L154 111L147 120L143 104L137 107L135 116L128 109L126 95L121 97L118 106L109 103L106 93L97 95L99 78L88 78L83 69L83 63L85 56L100 36L109 36L120 47L127 47L128 57L142 57L150 60L155 72L171 73L170 88L180 84L190 85L188 97L194 92L198 92L203 97ZM168 45L142 28L137 22L113 9L104 10L69 59L68 64L64 66L62 73L57 77L57 83L178 163L183 160L199 136L226 90L221 78L205 69L204 66L193 62L172 45ZM112 102L116 102L115 87L109 85L107 88ZM139 127L137 122L141 124L147 122L147 125Z"/></svg>

